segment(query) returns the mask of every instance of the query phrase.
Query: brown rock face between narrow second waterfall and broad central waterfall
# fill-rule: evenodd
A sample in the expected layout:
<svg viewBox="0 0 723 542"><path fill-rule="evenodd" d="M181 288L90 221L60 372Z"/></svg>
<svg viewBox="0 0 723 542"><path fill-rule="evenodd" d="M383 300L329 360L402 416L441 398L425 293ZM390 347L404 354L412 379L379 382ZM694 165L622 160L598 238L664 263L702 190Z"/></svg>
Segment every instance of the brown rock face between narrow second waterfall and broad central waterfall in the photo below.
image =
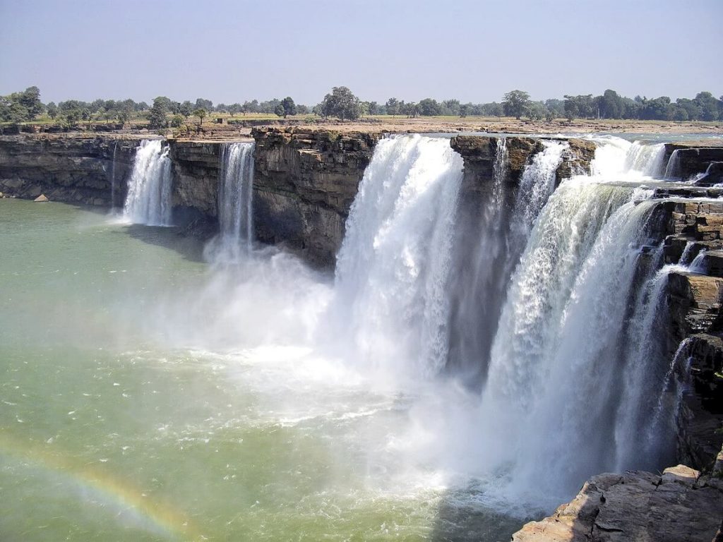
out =
<svg viewBox="0 0 723 542"><path fill-rule="evenodd" d="M349 208L382 134L260 128L253 136L257 237L333 266Z"/></svg>

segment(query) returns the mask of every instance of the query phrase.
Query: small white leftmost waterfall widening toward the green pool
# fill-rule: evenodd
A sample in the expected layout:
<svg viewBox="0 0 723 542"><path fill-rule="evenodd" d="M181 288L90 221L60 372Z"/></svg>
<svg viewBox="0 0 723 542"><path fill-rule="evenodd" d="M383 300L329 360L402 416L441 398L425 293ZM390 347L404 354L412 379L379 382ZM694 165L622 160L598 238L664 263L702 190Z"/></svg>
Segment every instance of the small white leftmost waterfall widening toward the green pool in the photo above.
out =
<svg viewBox="0 0 723 542"><path fill-rule="evenodd" d="M128 183L124 216L132 223L171 225L171 159L161 139L143 139Z"/></svg>

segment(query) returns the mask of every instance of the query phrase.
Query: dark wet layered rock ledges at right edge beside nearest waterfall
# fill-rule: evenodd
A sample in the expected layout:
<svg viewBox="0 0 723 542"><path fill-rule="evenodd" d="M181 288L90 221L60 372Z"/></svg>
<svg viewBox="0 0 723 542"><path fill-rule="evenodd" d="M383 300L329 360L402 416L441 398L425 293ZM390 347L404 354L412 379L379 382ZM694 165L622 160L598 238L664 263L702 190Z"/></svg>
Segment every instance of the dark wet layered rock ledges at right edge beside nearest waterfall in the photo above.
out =
<svg viewBox="0 0 723 542"><path fill-rule="evenodd" d="M683 190L689 197L717 195L710 194L713 189ZM700 255L694 269L668 275L668 324L663 336L683 384L677 458L695 468L708 468L723 444L723 377L719 376L723 374L723 201L666 199L656 205L654 214L665 236L664 263L678 263L685 253L684 263L689 264Z"/></svg>

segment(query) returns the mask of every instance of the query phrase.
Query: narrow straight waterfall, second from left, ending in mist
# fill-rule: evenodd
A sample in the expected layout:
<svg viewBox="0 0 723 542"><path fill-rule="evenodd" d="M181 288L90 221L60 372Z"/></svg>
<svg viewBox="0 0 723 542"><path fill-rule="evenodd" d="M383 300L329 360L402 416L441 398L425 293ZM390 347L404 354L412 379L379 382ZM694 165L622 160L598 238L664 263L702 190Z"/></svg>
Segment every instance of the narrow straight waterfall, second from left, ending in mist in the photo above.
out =
<svg viewBox="0 0 723 542"><path fill-rule="evenodd" d="M218 223L221 250L236 260L251 250L254 143L221 144L218 176Z"/></svg>

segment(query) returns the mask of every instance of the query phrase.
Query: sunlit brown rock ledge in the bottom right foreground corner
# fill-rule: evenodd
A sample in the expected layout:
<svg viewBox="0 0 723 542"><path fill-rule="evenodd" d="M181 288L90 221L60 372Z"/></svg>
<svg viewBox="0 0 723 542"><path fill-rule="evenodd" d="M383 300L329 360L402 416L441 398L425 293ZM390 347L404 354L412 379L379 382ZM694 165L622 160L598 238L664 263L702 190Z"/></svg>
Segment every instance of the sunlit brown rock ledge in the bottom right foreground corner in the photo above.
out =
<svg viewBox="0 0 723 542"><path fill-rule="evenodd" d="M590 478L571 502L529 522L513 542L711 542L723 517L723 482L684 465Z"/></svg>

